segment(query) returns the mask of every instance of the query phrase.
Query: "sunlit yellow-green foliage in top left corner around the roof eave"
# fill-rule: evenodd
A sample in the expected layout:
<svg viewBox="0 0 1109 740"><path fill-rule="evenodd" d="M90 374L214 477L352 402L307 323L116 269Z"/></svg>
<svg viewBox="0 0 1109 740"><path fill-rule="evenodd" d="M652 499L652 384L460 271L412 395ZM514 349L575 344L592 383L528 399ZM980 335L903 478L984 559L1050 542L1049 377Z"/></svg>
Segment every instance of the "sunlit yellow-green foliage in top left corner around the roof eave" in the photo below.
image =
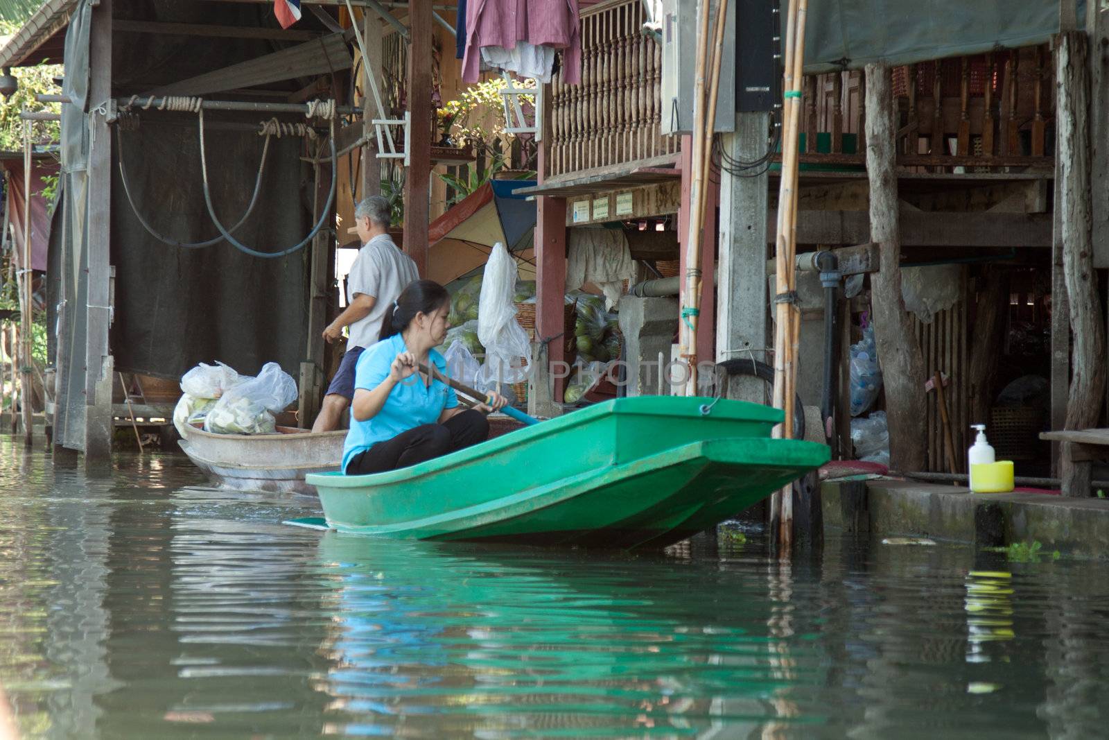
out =
<svg viewBox="0 0 1109 740"><path fill-rule="evenodd" d="M12 17L6 11L17 11L17 6L34 6L41 2L13 2L0 0L0 36L10 37L19 30L22 18ZM61 60L58 60L61 61ZM22 151L24 122L19 120L23 110L58 112L57 103L40 103L34 100L37 94L61 94L61 88L54 84L54 77L62 75L61 64L39 64L38 67L16 67L11 73L19 80L19 89L11 98L0 104L0 150ZM32 121L31 141L38 144L58 141L61 133L58 121Z"/></svg>

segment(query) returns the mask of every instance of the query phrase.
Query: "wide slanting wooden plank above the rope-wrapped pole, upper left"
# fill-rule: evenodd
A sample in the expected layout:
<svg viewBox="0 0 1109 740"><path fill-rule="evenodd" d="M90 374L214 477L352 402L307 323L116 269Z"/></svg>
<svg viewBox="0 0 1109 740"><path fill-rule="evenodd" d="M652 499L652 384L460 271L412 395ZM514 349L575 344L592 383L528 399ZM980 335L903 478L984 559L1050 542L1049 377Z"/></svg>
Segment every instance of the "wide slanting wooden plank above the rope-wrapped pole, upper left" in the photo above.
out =
<svg viewBox="0 0 1109 740"><path fill-rule="evenodd" d="M343 34L332 33L314 41L275 51L272 54L232 64L222 70L162 85L153 90L152 94L202 95L235 88L252 88L294 78L315 77L347 70L350 69L352 63L350 50L347 48Z"/></svg>

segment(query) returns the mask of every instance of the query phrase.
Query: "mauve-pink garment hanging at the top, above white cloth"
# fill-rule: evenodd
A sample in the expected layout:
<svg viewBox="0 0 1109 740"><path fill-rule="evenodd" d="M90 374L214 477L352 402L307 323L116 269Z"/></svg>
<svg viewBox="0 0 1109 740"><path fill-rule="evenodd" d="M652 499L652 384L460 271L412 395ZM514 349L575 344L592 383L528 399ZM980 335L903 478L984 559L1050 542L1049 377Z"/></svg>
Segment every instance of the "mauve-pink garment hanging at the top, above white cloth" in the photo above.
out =
<svg viewBox="0 0 1109 740"><path fill-rule="evenodd" d="M462 80L478 81L482 49L513 51L522 41L533 47L561 49L564 81L581 82L578 0L467 0L467 3ZM502 53L494 52L494 55ZM545 65L543 69L550 68Z"/></svg>

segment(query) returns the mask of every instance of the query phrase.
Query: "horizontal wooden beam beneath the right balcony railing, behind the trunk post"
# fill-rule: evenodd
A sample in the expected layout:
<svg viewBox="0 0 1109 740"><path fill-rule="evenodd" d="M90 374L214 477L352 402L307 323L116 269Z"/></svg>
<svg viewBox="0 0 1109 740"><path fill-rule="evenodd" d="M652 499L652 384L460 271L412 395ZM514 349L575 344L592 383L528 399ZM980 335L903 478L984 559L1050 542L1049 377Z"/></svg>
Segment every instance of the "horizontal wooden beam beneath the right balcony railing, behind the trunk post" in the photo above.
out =
<svg viewBox="0 0 1109 740"><path fill-rule="evenodd" d="M767 213L774 224L777 210ZM902 246L1050 247L1047 213L902 211ZM798 211L798 244L859 244L871 241L865 211Z"/></svg>

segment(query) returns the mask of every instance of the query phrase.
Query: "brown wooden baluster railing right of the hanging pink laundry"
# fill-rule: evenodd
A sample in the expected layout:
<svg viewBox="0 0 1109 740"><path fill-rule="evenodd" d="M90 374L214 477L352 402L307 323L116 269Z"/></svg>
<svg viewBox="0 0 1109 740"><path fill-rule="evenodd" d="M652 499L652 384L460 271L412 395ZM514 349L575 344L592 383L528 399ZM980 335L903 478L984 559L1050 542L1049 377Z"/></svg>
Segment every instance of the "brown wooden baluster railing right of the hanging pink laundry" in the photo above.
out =
<svg viewBox="0 0 1109 740"><path fill-rule="evenodd" d="M659 132L662 50L643 36L640 0L608 0L581 12L581 84L552 80L548 176L671 154Z"/></svg>

